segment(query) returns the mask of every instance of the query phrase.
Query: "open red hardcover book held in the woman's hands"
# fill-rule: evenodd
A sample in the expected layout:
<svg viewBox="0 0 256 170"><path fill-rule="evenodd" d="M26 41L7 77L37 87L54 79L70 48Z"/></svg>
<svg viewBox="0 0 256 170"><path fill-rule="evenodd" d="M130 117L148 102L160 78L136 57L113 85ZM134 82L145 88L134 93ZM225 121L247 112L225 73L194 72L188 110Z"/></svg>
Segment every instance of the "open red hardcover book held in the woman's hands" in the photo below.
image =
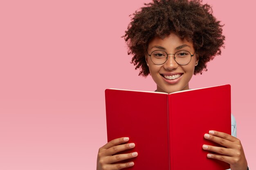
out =
<svg viewBox="0 0 256 170"><path fill-rule="evenodd" d="M106 89L108 141L129 137L138 152L130 170L226 170L207 158L209 130L231 134L230 85L175 93ZM118 153L120 154L120 153ZM124 162L127 162L124 161Z"/></svg>

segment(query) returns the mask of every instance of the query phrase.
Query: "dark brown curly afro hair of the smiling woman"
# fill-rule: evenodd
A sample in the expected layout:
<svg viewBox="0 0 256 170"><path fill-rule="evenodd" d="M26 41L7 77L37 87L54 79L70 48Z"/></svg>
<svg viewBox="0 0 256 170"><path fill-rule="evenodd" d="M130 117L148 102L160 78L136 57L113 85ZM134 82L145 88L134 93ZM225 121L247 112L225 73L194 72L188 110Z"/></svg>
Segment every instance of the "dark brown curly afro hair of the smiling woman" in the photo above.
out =
<svg viewBox="0 0 256 170"><path fill-rule="evenodd" d="M221 54L225 36L220 21L212 15L209 4L202 0L153 0L135 11L122 36L128 45L131 63L140 69L139 75L146 77L149 69L145 61L148 43L154 37L164 39L171 32L193 43L199 57L194 75L207 71L207 62Z"/></svg>

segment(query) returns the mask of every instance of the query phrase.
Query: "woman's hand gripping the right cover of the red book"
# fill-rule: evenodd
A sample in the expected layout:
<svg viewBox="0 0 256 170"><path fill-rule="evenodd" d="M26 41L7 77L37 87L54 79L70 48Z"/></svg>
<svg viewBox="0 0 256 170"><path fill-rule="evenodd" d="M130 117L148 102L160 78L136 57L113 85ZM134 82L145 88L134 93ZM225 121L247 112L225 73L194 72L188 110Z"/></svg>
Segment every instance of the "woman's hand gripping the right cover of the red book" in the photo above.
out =
<svg viewBox="0 0 256 170"><path fill-rule="evenodd" d="M210 130L209 134L204 134L204 138L214 141L224 147L203 145L204 150L210 150L218 154L207 154L208 158L218 159L230 164L231 170L247 170L247 161L243 146L239 139L224 132ZM219 155L220 154L220 155Z"/></svg>

